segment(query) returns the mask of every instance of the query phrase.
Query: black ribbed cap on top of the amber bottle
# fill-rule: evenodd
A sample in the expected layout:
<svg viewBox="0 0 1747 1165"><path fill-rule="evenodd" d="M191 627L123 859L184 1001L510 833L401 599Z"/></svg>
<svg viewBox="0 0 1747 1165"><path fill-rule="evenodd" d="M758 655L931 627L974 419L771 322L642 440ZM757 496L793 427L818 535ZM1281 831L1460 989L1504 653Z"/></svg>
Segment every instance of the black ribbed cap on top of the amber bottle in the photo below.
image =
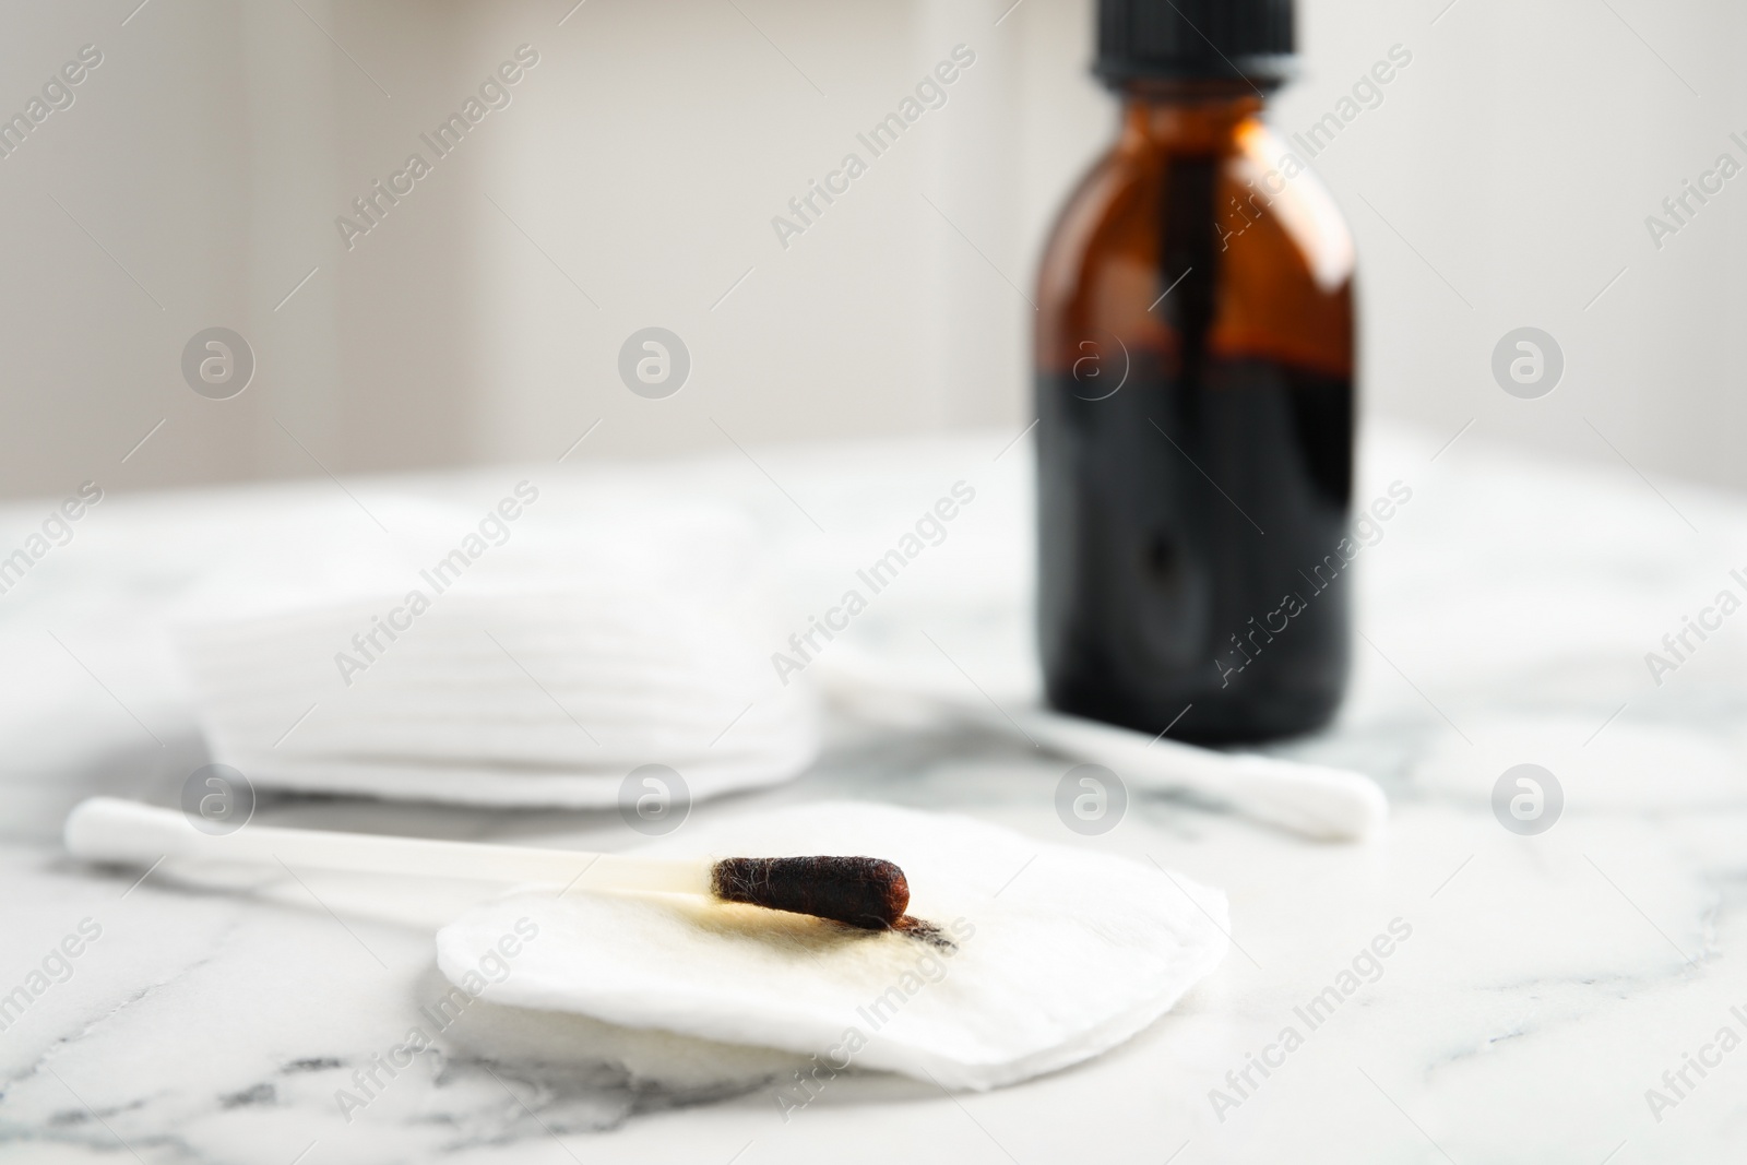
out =
<svg viewBox="0 0 1747 1165"><path fill-rule="evenodd" d="M1293 0L1099 0L1104 84L1130 80L1286 80Z"/></svg>

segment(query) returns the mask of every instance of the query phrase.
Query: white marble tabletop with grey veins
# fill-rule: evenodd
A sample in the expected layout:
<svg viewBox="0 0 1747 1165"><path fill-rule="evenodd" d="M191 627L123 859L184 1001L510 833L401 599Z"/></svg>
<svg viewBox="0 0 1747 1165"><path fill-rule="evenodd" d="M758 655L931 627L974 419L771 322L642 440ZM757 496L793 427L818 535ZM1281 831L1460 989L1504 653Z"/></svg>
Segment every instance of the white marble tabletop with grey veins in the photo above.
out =
<svg viewBox="0 0 1747 1165"><path fill-rule="evenodd" d="M538 473L549 512L611 491L737 500L804 615L964 479L978 503L860 634L910 653L926 629L1012 686L1025 679L1031 550L1025 445L994 459L1008 437L756 451L791 498L739 454L348 486L363 505L407 493L484 505ZM54 838L79 796L162 798L203 762L162 632L182 596L225 562L377 533L325 480L107 498L0 597L0 992L68 936L79 948L70 975L49 959L65 982L0 1031L0 1148L154 1165L1738 1162L1747 1050L1717 1039L1747 1037L1747 615L1695 639L1661 685L1644 657L1719 590L1747 592L1730 578L1747 566L1747 503L1653 489L1626 466L1532 463L1480 433L1433 461L1441 440L1370 435L1361 503L1394 480L1412 501L1359 557L1364 638L1340 723L1282 749L1384 782L1394 819L1375 844L1305 844L1162 798L1078 838L1052 809L1060 762L943 730L844 727L800 781L695 810L840 796L952 809L1150 854L1232 898L1226 962L1116 1051L984 1095L844 1078L788 1121L769 1081L674 1088L587 1050L533 1062L482 1011L348 1123L335 1088L433 992L428 931L342 924L290 898L129 886L70 863ZM49 505L0 512L0 545ZM1536 837L1490 807L1523 762L1565 793ZM267 800L262 819L631 840L606 814ZM1361 957L1391 927L1389 957ZM1364 982L1340 994L1356 957ZM1340 1004L1312 1025L1302 1011L1331 985ZM1267 1076L1251 1055L1272 1060ZM1700 1074L1688 1057L1714 1065ZM1653 1088L1670 1104L1653 1111Z"/></svg>

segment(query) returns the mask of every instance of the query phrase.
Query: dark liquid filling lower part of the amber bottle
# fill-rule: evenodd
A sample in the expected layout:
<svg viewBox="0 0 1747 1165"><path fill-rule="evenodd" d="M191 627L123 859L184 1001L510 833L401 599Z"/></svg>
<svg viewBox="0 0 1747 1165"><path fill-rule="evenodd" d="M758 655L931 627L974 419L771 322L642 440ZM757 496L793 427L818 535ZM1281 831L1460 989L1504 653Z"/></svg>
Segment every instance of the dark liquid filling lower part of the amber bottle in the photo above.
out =
<svg viewBox="0 0 1747 1165"><path fill-rule="evenodd" d="M1190 741L1305 732L1347 671L1350 376L1216 351L1214 161L1174 159L1162 187L1176 349L1094 335L1036 383L1048 699Z"/></svg>

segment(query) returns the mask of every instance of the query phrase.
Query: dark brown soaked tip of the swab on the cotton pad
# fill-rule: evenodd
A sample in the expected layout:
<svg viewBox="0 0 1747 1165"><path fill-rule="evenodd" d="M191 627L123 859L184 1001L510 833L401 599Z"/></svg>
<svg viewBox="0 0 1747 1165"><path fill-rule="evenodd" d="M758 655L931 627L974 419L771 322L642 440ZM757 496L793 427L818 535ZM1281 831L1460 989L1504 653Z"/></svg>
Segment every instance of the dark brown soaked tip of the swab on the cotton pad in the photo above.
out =
<svg viewBox="0 0 1747 1165"><path fill-rule="evenodd" d="M889 931L910 905L903 870L880 858L723 858L709 868L709 891L865 931Z"/></svg>

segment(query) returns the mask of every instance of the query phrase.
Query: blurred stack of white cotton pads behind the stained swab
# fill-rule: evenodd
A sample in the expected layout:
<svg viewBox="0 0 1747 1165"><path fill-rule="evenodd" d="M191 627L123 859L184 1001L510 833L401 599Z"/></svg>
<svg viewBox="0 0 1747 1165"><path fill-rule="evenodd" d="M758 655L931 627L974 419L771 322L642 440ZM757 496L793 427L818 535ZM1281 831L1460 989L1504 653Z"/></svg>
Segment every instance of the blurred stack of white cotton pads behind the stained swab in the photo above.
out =
<svg viewBox="0 0 1747 1165"><path fill-rule="evenodd" d="M454 540L470 517L418 522ZM770 674L735 519L517 531L459 578L419 568L432 540L190 618L178 648L213 756L262 786L482 805L606 807L643 765L692 796L788 779L816 713Z"/></svg>

